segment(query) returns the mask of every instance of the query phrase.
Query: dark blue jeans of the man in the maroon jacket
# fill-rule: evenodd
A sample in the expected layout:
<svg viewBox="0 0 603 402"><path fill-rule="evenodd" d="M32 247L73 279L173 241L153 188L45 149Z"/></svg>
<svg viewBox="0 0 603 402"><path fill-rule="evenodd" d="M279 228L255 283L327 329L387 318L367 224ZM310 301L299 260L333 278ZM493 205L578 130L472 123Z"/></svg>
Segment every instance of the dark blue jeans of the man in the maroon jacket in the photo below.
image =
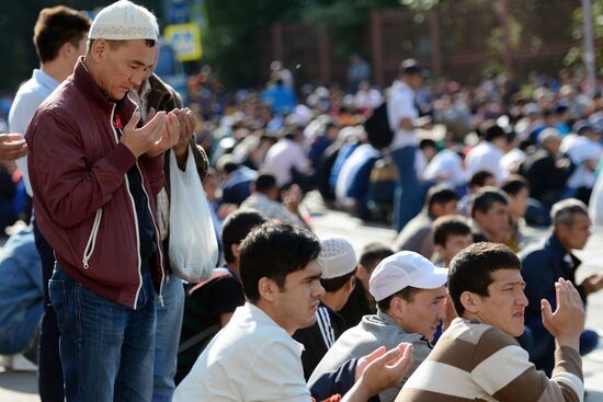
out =
<svg viewBox="0 0 603 402"><path fill-rule="evenodd" d="M148 264L136 310L96 295L58 266L48 288L67 402L150 401L156 309Z"/></svg>

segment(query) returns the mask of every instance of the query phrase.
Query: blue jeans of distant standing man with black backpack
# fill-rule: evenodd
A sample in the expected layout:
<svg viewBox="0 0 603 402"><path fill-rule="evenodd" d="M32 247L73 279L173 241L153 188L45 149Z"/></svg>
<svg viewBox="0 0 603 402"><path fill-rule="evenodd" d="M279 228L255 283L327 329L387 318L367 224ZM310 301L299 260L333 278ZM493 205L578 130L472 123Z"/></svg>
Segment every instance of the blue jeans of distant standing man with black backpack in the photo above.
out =
<svg viewBox="0 0 603 402"><path fill-rule="evenodd" d="M398 168L398 183L394 197L394 226L397 231L421 211L424 191L414 171L417 146L391 151L391 160Z"/></svg>

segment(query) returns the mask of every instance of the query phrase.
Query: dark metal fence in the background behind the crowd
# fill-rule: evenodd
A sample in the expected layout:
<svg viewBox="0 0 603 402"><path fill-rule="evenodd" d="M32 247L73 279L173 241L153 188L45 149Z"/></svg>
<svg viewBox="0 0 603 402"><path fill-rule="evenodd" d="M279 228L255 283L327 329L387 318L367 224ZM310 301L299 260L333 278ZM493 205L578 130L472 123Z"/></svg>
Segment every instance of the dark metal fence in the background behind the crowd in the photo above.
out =
<svg viewBox="0 0 603 402"><path fill-rule="evenodd" d="M578 0L455 0L426 11L376 10L366 16L369 37L357 50L367 55L378 87L408 57L464 83L488 71L556 74L580 44L573 32L579 8ZM328 27L278 23L270 36L263 60L283 60L297 82L345 84L348 60L334 56Z"/></svg>

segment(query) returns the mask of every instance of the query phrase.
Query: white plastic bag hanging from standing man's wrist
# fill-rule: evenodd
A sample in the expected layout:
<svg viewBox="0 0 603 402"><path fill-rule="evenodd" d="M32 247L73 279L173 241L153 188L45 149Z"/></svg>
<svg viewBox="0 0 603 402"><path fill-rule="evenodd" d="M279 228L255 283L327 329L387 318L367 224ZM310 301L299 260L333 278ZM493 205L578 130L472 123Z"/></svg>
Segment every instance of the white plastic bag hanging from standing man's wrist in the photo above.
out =
<svg viewBox="0 0 603 402"><path fill-rule="evenodd" d="M191 147L184 172L170 150L169 252L173 273L190 283L207 279L218 263L214 222Z"/></svg>

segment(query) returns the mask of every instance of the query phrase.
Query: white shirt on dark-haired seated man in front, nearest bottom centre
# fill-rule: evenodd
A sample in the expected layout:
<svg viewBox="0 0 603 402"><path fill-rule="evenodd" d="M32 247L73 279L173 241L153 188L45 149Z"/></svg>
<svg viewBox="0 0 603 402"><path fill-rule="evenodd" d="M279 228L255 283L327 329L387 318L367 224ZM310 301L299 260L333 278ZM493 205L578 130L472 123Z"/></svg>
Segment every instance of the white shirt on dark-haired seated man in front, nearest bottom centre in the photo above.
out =
<svg viewBox="0 0 603 402"><path fill-rule="evenodd" d="M173 402L309 402L303 348L247 302L201 354Z"/></svg>

